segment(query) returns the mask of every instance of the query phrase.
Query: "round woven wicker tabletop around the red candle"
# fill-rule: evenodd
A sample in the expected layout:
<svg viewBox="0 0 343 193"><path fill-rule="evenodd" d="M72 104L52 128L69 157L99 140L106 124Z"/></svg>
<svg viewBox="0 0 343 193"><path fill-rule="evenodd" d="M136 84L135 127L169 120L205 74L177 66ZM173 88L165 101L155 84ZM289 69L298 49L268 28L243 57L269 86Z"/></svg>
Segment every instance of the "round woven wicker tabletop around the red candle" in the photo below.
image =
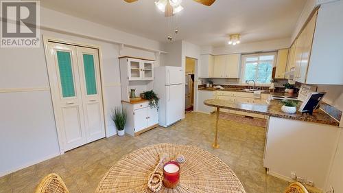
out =
<svg viewBox="0 0 343 193"><path fill-rule="evenodd" d="M186 161L180 165L178 187L163 187L160 192L245 192L233 170L210 152L194 146L155 144L119 160L100 181L97 193L152 192L147 188L147 177L163 152L169 155L167 161L176 155L184 155Z"/></svg>

